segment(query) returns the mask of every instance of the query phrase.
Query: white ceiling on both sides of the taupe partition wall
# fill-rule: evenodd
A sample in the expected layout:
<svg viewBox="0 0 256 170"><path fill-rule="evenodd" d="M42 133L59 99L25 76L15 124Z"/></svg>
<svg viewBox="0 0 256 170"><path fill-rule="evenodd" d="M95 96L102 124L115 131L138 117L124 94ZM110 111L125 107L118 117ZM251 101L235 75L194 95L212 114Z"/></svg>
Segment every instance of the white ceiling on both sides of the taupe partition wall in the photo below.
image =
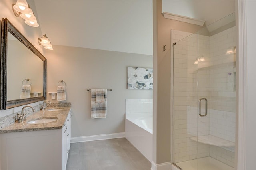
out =
<svg viewBox="0 0 256 170"><path fill-rule="evenodd" d="M162 0L163 12L211 24L235 11L235 0ZM34 0L54 45L153 54L152 0Z"/></svg>

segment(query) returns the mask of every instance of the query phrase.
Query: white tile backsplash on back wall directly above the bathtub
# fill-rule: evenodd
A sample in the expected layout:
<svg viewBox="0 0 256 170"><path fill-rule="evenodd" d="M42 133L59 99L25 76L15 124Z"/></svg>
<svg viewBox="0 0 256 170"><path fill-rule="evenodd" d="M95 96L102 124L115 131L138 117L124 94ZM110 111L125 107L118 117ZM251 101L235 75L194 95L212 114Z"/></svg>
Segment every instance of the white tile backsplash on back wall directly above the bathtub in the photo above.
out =
<svg viewBox="0 0 256 170"><path fill-rule="evenodd" d="M153 99L125 99L125 113L152 113Z"/></svg>

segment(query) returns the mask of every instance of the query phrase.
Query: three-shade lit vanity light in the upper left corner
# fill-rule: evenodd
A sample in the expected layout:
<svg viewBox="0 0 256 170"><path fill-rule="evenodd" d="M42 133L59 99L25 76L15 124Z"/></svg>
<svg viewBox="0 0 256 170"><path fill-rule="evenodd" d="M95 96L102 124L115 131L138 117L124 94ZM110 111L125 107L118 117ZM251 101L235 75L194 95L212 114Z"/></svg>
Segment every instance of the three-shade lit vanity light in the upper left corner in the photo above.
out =
<svg viewBox="0 0 256 170"><path fill-rule="evenodd" d="M34 16L34 12L28 5L26 0L17 0L16 4L12 5L13 13L16 17L20 16L23 18L25 23L32 27L38 27L36 17Z"/></svg>

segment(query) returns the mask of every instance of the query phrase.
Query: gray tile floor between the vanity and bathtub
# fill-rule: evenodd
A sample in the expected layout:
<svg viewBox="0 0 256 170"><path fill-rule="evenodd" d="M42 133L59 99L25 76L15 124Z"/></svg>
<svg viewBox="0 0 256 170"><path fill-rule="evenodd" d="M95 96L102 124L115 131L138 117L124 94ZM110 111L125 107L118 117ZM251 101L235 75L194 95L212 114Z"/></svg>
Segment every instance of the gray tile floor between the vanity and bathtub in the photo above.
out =
<svg viewBox="0 0 256 170"><path fill-rule="evenodd" d="M151 163L126 139L72 143L66 170L150 170Z"/></svg>

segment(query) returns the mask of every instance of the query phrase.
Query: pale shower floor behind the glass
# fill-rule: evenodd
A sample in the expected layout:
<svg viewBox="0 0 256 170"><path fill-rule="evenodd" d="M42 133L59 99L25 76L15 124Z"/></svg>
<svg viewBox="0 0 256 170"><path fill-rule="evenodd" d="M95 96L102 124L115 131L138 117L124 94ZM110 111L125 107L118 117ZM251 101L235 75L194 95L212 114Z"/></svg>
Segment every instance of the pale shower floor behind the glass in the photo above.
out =
<svg viewBox="0 0 256 170"><path fill-rule="evenodd" d="M179 162L176 163L176 165L183 170L234 170L231 166L228 166L210 156L199 158L197 160L194 159Z"/></svg>

